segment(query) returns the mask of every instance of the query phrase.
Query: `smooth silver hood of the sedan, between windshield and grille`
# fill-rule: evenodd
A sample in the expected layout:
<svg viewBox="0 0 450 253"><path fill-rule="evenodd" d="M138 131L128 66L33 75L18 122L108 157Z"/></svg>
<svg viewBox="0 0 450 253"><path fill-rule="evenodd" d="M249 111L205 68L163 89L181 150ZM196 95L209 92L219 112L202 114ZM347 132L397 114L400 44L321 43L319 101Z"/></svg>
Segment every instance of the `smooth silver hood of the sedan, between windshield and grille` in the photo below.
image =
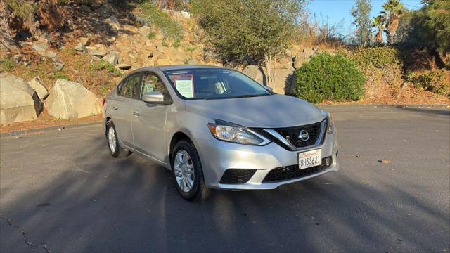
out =
<svg viewBox="0 0 450 253"><path fill-rule="evenodd" d="M320 122L326 117L311 103L283 95L185 102L190 112L248 127L300 126Z"/></svg>

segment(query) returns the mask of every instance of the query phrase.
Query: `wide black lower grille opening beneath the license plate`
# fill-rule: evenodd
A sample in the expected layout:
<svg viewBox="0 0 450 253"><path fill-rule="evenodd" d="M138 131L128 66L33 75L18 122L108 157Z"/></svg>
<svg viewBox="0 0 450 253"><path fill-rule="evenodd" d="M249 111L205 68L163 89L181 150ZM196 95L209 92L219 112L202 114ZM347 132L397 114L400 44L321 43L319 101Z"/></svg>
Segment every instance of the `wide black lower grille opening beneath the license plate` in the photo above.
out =
<svg viewBox="0 0 450 253"><path fill-rule="evenodd" d="M331 157L322 158L322 164L316 167L307 169L299 169L298 164L278 167L272 169L264 178L262 183L274 183L278 181L286 181L290 179L300 179L305 176L310 176L322 171L325 171L331 164L333 159Z"/></svg>

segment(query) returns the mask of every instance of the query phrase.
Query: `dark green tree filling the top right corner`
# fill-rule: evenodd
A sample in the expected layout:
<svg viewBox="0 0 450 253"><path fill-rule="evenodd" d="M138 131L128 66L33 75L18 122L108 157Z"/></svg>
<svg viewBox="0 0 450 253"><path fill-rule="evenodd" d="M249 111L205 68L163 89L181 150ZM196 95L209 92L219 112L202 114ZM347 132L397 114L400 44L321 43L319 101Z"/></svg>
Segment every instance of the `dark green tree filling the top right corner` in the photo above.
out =
<svg viewBox="0 0 450 253"><path fill-rule="evenodd" d="M450 52L450 1L429 0L413 13L408 41Z"/></svg>

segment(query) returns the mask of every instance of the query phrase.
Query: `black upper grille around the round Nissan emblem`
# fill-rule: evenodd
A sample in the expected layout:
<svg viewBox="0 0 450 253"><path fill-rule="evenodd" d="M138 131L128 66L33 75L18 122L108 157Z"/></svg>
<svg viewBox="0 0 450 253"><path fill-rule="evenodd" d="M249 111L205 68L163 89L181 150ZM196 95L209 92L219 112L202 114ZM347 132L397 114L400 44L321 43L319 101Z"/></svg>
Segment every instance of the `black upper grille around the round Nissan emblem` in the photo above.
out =
<svg viewBox="0 0 450 253"><path fill-rule="evenodd" d="M304 148L316 144L317 139L321 137L321 125L322 122L319 122L305 126L293 126L274 130L283 136L283 138L285 138L291 145L295 146L295 148ZM300 132L302 130L307 131L309 134L307 141L303 141L300 138Z"/></svg>

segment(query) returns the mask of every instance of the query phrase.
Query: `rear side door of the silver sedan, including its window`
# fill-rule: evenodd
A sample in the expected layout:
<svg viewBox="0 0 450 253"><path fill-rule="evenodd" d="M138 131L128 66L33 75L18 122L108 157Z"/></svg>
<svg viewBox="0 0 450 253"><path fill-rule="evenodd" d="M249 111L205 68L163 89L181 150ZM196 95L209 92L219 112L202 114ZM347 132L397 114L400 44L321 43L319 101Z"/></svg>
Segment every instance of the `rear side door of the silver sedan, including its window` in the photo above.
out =
<svg viewBox="0 0 450 253"><path fill-rule="evenodd" d="M134 148L133 134L131 133L132 107L139 94L141 73L132 74L124 80L118 96L113 105L113 122L122 143Z"/></svg>

